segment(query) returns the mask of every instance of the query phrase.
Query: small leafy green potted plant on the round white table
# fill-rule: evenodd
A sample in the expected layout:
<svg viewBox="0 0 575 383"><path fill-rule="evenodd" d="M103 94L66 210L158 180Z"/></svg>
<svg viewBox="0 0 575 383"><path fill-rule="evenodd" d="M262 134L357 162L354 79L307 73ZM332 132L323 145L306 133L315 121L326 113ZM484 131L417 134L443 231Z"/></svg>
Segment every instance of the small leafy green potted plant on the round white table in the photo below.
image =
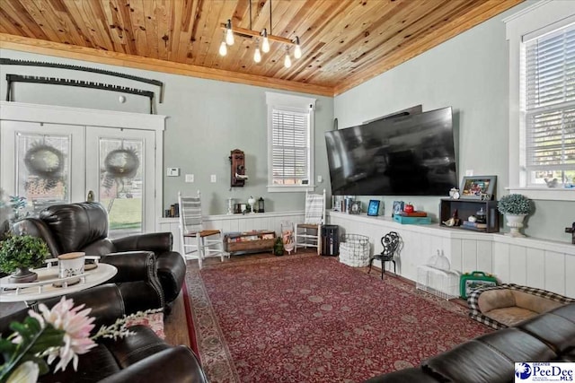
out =
<svg viewBox="0 0 575 383"><path fill-rule="evenodd" d="M0 242L0 270L13 273L10 282L32 282L38 278L29 268L44 265L49 249L43 239L31 235L9 235Z"/></svg>

